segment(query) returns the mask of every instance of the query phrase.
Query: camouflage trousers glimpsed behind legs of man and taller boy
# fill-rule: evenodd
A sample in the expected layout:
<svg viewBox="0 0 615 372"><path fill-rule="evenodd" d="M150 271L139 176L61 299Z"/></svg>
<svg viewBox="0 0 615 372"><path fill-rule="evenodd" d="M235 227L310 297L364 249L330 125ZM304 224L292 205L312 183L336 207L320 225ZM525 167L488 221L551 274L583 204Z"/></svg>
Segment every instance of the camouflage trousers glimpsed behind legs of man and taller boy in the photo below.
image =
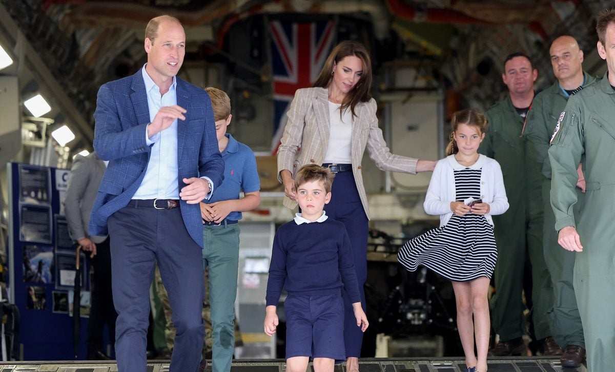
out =
<svg viewBox="0 0 615 372"><path fill-rule="evenodd" d="M206 358L212 358L212 317L211 317L211 307L209 306L209 270L205 269L205 301L203 303L203 320L205 322L205 342L203 344L203 354ZM160 275L160 271L156 266L156 271L154 272L154 288L158 295L158 298L161 302L162 311L164 312L166 325L164 327L164 337L167 342L167 347L169 350L173 350L173 339L175 339L175 327L173 327L173 322L171 317L173 315L173 311L171 310L171 306L169 304L169 295L167 294L167 290L164 289L164 285L162 284L162 278ZM235 346L243 346L244 342L242 341L241 331L239 330L239 322L237 322L237 317L235 317Z"/></svg>

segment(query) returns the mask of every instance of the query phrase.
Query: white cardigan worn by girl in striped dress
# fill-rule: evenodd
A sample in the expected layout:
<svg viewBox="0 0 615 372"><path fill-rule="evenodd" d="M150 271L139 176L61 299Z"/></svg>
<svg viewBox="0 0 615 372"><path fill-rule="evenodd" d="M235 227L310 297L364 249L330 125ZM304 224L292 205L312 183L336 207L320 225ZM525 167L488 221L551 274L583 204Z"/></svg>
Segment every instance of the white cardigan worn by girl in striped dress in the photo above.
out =
<svg viewBox="0 0 615 372"><path fill-rule="evenodd" d="M485 218L493 226L491 215L501 215L506 212L509 204L498 162L482 154L470 167L459 164L454 155L438 160L423 204L425 212L428 215L440 215L440 226L448 222L453 215L451 202L455 201L456 193L453 171L464 168L483 168L480 175L480 197L484 203L490 205L490 213L486 214Z"/></svg>

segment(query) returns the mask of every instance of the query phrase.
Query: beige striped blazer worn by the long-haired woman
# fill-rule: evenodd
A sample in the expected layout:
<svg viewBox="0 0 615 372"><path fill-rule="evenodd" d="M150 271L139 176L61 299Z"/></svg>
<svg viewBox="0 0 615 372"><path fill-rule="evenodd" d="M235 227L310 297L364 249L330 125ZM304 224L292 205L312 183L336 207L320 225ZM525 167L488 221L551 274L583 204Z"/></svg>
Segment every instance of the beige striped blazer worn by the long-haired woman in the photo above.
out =
<svg viewBox="0 0 615 372"><path fill-rule="evenodd" d="M357 116L352 123L352 173L365 215L370 218L361 173L361 160L365 148L367 147L371 159L381 170L416 174L418 159L391 154L384 142L383 132L378 127L376 101L373 98L369 102L359 103L355 107L355 114ZM311 163L321 165L327 154L329 134L328 90L326 88L297 90L288 109L288 122L277 152L278 180L282 182L280 172L284 169L290 170L294 178L296 171L303 165ZM284 205L292 209L297 203L285 196Z"/></svg>

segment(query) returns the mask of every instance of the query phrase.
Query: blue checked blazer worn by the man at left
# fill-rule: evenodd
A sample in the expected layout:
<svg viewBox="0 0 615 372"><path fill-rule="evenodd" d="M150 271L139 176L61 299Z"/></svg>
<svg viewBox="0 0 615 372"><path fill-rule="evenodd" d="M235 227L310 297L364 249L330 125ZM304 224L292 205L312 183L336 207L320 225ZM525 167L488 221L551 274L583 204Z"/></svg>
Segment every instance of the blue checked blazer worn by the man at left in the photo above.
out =
<svg viewBox="0 0 615 372"><path fill-rule="evenodd" d="M224 178L224 160L218 150L209 95L177 77L177 105L187 111L186 120L177 123L179 189L186 186L183 178L202 176L209 177L216 188ZM145 141L149 107L141 70L100 87L94 119L94 149L109 165L92 207L89 233L106 235L109 216L124 208L137 192L151 154ZM202 247L199 204L180 203L186 228Z"/></svg>

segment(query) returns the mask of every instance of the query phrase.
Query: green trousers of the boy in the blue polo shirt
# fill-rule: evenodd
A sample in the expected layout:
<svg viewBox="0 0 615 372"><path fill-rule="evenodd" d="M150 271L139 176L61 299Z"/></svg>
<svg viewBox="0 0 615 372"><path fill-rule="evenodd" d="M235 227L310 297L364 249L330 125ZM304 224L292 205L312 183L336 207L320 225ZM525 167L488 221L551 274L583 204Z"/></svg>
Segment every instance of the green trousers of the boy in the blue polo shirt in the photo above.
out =
<svg viewBox="0 0 615 372"><path fill-rule="evenodd" d="M204 226L203 240L203 265L209 271L212 371L230 372L235 350L239 224Z"/></svg>

